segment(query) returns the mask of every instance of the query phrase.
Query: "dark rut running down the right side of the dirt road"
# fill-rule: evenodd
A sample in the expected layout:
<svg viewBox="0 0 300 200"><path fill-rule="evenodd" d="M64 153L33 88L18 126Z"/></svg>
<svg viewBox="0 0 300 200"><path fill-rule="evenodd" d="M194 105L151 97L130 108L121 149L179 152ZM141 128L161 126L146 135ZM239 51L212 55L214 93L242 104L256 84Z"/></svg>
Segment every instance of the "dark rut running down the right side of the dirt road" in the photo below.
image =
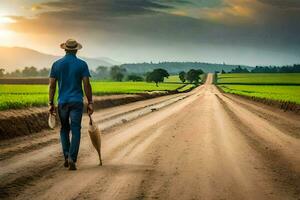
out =
<svg viewBox="0 0 300 200"><path fill-rule="evenodd" d="M291 163L290 158L282 154L280 146L274 145L266 138L257 135L257 131L253 129L253 126L249 125L247 121L241 120L241 117L232 110L232 105L224 101L223 97L220 96L217 95L218 100L224 106L225 111L236 122L236 127L241 135L245 137L245 141L262 156L261 161L268 168L268 170L264 169L263 171L271 172L273 183L281 190L288 191L287 194L292 195L286 197L287 199L297 199L300 196L300 172L295 169L294 165L299 164L299 162L294 161L294 163ZM236 103L234 105L235 109L238 109L239 106Z"/></svg>

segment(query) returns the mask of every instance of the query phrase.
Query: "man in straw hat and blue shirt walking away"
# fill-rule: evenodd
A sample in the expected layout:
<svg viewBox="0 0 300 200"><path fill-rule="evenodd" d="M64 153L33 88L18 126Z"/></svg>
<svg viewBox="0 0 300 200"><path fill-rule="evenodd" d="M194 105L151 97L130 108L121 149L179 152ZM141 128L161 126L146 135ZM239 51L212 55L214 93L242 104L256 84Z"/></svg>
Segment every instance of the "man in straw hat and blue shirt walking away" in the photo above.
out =
<svg viewBox="0 0 300 200"><path fill-rule="evenodd" d="M88 100L87 112L89 115L94 112L90 72L86 62L76 57L77 51L82 48L81 44L69 39L60 46L66 55L54 62L50 71L49 112L51 114L55 112L53 99L58 81L58 114L61 122L60 139L65 158L64 166L69 167L69 170L76 170L83 113L82 82Z"/></svg>

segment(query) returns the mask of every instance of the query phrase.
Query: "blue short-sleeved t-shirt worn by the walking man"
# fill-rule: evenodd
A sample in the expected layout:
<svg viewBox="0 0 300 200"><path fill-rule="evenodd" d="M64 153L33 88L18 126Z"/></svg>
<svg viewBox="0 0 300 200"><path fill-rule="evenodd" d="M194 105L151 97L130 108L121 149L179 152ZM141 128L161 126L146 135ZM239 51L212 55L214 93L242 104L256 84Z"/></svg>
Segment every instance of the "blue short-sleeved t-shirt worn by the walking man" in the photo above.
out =
<svg viewBox="0 0 300 200"><path fill-rule="evenodd" d="M54 62L50 77L58 81L58 103L82 102L82 78L90 76L86 62L74 54L66 54Z"/></svg>

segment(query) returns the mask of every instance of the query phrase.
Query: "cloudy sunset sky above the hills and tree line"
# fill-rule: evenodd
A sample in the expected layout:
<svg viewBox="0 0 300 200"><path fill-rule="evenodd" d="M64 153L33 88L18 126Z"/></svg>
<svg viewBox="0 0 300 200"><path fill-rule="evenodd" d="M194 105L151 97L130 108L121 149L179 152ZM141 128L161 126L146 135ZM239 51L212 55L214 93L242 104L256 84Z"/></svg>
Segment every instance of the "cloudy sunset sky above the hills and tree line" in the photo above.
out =
<svg viewBox="0 0 300 200"><path fill-rule="evenodd" d="M300 0L1 0L0 46L122 63L300 63Z"/></svg>

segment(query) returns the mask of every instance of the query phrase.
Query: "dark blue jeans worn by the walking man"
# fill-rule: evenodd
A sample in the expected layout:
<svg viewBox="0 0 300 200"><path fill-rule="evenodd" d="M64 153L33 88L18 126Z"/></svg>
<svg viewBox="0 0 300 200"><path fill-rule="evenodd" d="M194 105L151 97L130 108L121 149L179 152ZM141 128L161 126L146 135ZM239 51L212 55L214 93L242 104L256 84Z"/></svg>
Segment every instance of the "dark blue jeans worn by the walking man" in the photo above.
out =
<svg viewBox="0 0 300 200"><path fill-rule="evenodd" d="M58 114L61 122L60 139L65 159L77 161L80 145L81 119L83 103L63 103L58 105ZM70 142L70 130L72 139Z"/></svg>

